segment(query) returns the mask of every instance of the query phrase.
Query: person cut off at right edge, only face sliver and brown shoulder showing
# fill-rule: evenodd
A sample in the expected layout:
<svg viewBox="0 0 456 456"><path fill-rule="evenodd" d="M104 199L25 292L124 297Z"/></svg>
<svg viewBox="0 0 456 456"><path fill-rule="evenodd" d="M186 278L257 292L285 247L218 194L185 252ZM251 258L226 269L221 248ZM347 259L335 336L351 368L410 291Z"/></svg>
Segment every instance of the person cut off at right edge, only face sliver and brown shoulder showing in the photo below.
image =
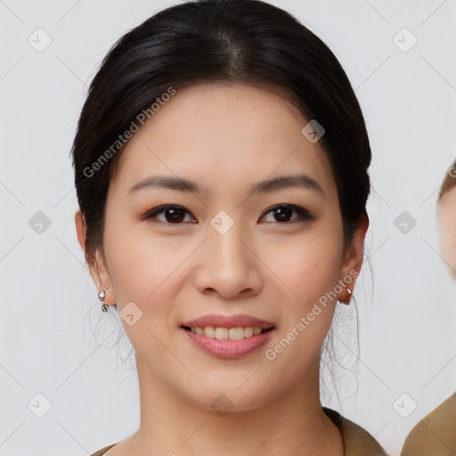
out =
<svg viewBox="0 0 456 456"><path fill-rule="evenodd" d="M456 279L456 161L442 183L437 207L440 252L452 278ZM401 456L456 454L456 393L411 429Z"/></svg>

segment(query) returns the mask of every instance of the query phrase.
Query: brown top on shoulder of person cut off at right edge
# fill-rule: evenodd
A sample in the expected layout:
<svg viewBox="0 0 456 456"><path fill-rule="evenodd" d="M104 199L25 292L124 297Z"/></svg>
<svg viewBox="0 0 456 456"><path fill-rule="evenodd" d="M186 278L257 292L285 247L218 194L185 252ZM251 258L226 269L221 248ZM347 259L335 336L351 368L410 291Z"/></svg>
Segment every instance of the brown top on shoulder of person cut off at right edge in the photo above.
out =
<svg viewBox="0 0 456 456"><path fill-rule="evenodd" d="M401 456L456 455L456 393L411 429Z"/></svg>

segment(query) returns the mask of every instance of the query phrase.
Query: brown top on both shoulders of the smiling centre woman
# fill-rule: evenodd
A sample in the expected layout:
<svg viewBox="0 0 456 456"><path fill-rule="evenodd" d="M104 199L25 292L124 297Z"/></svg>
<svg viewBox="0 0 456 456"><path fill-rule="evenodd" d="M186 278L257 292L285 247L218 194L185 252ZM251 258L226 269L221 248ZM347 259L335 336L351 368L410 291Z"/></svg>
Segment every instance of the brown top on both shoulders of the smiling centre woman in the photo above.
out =
<svg viewBox="0 0 456 456"><path fill-rule="evenodd" d="M323 407L323 411L339 428L340 433L342 434L345 456L387 456L387 453L369 432L355 424L353 421L344 418L337 411L327 409L326 407ZM102 454L107 452L114 445L115 444L110 444L105 446L98 452L94 452L91 456L102 456ZM429 456L429 454L431 453L428 453L427 456ZM441 453L438 454L440 456Z"/></svg>

